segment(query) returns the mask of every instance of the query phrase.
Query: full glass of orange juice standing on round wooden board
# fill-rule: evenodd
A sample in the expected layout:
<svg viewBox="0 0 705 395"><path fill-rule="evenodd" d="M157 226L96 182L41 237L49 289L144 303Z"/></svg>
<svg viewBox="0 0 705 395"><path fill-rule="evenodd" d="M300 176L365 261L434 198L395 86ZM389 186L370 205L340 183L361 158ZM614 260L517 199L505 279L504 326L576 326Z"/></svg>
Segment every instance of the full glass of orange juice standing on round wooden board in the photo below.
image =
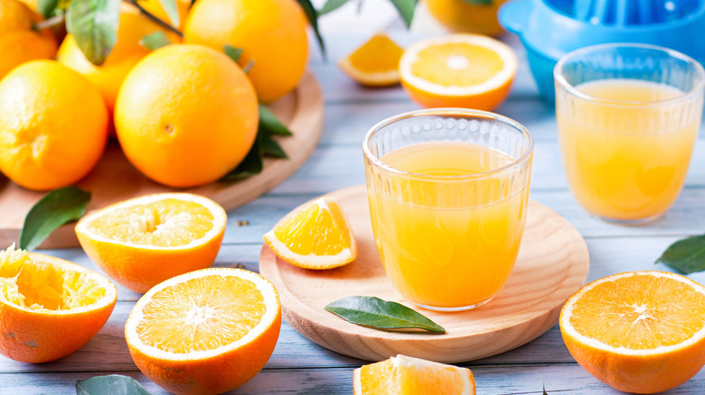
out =
<svg viewBox="0 0 705 395"><path fill-rule="evenodd" d="M372 230L392 285L422 308L483 305L522 242L533 139L502 115L393 116L362 142Z"/></svg>

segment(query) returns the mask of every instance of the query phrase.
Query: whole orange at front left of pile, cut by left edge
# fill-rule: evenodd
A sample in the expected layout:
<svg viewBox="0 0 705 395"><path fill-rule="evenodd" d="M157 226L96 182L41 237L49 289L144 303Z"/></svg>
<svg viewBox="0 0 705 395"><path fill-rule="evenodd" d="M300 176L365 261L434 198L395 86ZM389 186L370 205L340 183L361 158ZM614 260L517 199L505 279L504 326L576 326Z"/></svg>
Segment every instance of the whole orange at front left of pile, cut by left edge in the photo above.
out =
<svg viewBox="0 0 705 395"><path fill-rule="evenodd" d="M96 87L55 60L32 60L0 81L0 170L24 188L82 179L108 141Z"/></svg>

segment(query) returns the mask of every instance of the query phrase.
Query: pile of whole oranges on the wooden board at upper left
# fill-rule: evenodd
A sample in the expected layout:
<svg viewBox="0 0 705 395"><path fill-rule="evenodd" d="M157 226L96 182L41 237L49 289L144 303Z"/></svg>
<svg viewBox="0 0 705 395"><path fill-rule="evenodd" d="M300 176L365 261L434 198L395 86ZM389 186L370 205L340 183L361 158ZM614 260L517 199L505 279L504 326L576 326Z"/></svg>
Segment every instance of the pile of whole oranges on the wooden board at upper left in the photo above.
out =
<svg viewBox="0 0 705 395"><path fill-rule="evenodd" d="M176 188L212 182L252 147L258 103L287 95L303 76L307 22L296 0L201 0L191 9L178 0L178 21L156 0L139 5L183 37L122 3L117 42L97 66L71 34L58 42L29 6L0 0L5 176L34 190L74 184L115 134L149 179ZM147 49L141 41L155 32L172 44ZM238 63L226 45L242 50Z"/></svg>

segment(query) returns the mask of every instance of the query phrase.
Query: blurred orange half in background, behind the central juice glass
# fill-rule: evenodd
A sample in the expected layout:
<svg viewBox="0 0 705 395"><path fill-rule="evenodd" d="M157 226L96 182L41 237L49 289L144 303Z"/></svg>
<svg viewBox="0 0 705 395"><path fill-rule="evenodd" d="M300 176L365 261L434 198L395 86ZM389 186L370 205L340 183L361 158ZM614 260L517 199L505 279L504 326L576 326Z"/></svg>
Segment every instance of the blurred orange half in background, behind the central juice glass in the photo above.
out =
<svg viewBox="0 0 705 395"><path fill-rule="evenodd" d="M421 106L492 110L509 94L518 64L502 41L450 34L409 47L399 69L401 85Z"/></svg>

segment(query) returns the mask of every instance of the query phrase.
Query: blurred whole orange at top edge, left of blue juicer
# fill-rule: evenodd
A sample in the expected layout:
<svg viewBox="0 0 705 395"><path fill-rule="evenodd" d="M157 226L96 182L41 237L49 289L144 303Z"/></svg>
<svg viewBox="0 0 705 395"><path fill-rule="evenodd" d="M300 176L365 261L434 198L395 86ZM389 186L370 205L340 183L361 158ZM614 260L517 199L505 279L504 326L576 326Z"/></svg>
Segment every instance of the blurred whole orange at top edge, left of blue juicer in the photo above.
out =
<svg viewBox="0 0 705 395"><path fill-rule="evenodd" d="M507 0L492 0L477 5L465 0L426 0L428 12L452 32L498 35L504 32L497 21L497 10Z"/></svg>

